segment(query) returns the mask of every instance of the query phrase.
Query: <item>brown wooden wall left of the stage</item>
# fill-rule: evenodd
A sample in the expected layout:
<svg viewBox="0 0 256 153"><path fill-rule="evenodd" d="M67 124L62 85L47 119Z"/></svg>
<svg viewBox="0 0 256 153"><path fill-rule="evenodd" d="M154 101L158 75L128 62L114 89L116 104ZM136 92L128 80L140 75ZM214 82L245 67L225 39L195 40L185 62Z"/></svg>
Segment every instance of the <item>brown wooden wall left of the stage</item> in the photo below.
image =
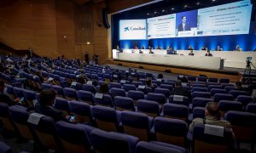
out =
<svg viewBox="0 0 256 153"><path fill-rule="evenodd" d="M78 5L71 0L9 1L0 5L0 41L16 50L32 48L41 56L63 54L84 59L88 50L91 55L98 54L100 60L107 59L108 32L102 24L105 7L104 2Z"/></svg>

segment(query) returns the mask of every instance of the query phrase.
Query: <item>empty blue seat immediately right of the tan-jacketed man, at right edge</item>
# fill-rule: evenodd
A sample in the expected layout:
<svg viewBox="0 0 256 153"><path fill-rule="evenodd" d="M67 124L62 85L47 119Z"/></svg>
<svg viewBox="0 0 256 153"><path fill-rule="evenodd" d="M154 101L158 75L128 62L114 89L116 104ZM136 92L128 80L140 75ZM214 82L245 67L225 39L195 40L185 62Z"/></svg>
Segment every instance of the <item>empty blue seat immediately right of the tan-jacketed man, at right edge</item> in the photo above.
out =
<svg viewBox="0 0 256 153"><path fill-rule="evenodd" d="M256 114L243 111L228 111L224 119L231 123L238 141L253 141L255 139Z"/></svg>

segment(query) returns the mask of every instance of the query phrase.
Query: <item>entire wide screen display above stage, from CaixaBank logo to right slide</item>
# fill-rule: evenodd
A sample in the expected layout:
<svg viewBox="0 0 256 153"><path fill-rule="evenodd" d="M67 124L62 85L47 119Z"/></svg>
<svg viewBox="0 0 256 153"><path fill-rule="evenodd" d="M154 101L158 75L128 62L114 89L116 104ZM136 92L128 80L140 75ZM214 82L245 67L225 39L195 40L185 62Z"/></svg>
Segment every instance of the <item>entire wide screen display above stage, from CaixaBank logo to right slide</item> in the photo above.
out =
<svg viewBox="0 0 256 153"><path fill-rule="evenodd" d="M119 39L248 34L252 8L250 0L244 0L147 20L120 20Z"/></svg>

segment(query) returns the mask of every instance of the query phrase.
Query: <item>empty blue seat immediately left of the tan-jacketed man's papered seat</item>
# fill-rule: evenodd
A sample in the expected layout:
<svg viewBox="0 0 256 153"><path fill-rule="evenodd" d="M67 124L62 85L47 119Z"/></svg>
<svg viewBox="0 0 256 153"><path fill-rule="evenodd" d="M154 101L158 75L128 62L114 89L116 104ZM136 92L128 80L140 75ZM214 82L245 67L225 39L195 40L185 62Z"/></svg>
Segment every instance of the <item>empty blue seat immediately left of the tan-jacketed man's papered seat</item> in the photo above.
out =
<svg viewBox="0 0 256 153"><path fill-rule="evenodd" d="M159 116L154 119L154 133L157 141L184 147L188 124L182 120Z"/></svg>

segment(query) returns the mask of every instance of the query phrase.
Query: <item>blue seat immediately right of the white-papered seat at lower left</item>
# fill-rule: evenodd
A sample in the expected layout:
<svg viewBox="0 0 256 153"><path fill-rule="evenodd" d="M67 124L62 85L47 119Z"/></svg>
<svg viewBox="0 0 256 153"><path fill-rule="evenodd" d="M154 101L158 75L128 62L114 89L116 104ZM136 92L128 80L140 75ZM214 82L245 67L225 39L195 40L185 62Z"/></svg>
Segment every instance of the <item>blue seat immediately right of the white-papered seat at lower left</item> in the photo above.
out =
<svg viewBox="0 0 256 153"><path fill-rule="evenodd" d="M61 144L66 152L89 152L90 140L83 124L56 122L56 132L61 139Z"/></svg>

